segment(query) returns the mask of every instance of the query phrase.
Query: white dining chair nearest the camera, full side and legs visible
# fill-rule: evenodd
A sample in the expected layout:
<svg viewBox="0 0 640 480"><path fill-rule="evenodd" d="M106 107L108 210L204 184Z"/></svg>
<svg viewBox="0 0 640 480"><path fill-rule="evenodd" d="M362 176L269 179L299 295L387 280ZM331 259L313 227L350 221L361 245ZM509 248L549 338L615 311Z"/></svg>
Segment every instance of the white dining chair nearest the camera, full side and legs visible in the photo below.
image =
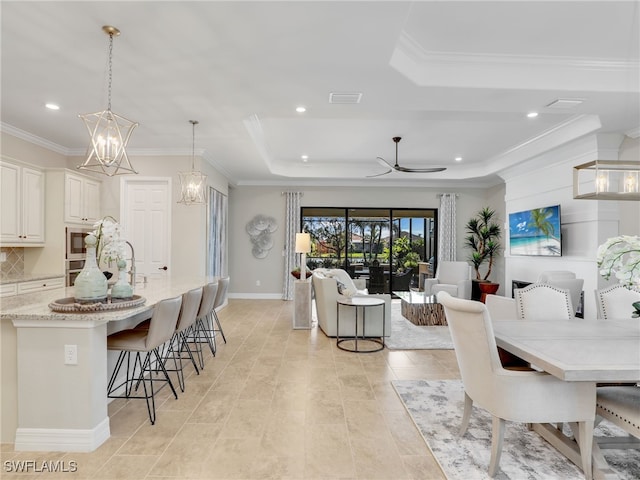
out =
<svg viewBox="0 0 640 480"><path fill-rule="evenodd" d="M502 368L486 305L447 292L438 293L437 298L447 316L464 386L460 435L467 431L474 403L492 416L489 475L498 471L507 421L578 422L581 464L591 478L595 385L563 381L545 372Z"/></svg>

